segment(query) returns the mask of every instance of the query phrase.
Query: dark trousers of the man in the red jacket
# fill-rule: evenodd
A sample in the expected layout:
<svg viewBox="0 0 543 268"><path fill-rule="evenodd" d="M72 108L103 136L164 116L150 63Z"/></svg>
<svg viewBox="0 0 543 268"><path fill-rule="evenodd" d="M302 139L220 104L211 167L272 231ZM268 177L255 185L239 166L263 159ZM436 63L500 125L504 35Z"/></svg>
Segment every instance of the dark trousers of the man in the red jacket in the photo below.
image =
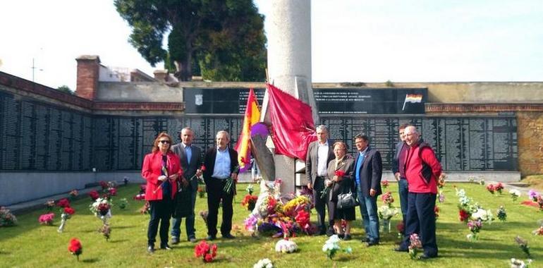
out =
<svg viewBox="0 0 543 268"><path fill-rule="evenodd" d="M408 212L405 219L405 238L401 248L407 249L410 245L409 236L417 233L425 255L437 256L436 240L436 194L434 193L409 193Z"/></svg>

